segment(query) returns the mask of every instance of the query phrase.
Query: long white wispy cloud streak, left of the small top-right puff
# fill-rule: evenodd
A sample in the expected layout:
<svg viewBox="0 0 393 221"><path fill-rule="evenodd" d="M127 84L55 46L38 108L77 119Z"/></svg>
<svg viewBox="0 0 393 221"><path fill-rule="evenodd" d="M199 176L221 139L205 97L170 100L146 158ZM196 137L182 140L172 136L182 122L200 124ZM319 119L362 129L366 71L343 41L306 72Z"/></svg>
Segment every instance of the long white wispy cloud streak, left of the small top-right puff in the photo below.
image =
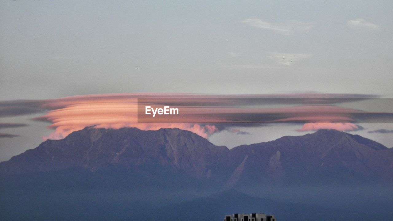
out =
<svg viewBox="0 0 393 221"><path fill-rule="evenodd" d="M307 32L314 26L313 23L305 23L299 22L295 20L290 20L285 24L272 24L270 22L266 22L257 18L250 18L246 20L242 20L242 23L247 24L249 26L258 27L262 29L270 29L277 33L281 33L284 35L290 35L296 32Z"/></svg>

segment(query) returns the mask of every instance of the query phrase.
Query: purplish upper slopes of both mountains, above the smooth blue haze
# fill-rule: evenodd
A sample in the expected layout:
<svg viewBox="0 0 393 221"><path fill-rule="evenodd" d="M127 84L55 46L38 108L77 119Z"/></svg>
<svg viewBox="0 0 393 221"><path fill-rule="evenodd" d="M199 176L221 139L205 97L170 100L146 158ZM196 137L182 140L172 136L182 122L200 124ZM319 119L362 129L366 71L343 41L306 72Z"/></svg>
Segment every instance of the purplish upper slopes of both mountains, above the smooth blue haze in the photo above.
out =
<svg viewBox="0 0 393 221"><path fill-rule="evenodd" d="M192 179L224 188L393 181L393 150L358 135L319 130L231 150L174 129L85 128L0 163L1 174L82 168L138 179ZM176 181L175 181L176 180ZM177 182L178 179L173 179Z"/></svg>

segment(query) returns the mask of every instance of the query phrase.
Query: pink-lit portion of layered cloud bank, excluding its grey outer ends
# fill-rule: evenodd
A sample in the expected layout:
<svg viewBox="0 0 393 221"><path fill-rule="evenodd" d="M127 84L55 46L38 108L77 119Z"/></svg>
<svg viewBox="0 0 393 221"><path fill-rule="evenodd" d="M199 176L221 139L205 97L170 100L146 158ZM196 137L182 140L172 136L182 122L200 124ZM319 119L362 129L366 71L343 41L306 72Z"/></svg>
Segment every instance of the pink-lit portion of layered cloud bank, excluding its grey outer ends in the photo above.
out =
<svg viewBox="0 0 393 221"><path fill-rule="evenodd" d="M86 126L97 128L136 127L141 130L158 130L160 128L180 128L197 133L202 137L219 130L216 123L223 122L307 122L299 131L318 130L322 128L336 130L356 130L352 113L362 111L321 104L331 102L324 98L343 98L344 95L329 94L276 94L276 95L198 95L182 93L127 93L101 94L64 97L60 99L39 100L42 108L49 109L36 120L51 122L48 128L54 129L43 139L62 139L68 134ZM345 97L345 96L344 96ZM347 96L348 97L348 96ZM138 99L178 99L182 116L159 122L138 122ZM235 98L235 99L233 99ZM248 98L275 99L288 98L299 100L298 106L281 108L249 108ZM286 99L286 100L288 100ZM285 100L284 100L285 101ZM304 105L316 102L318 105ZM293 105L293 103L291 103ZM248 118L250 117L250 118ZM172 120L176 121L172 121ZM321 123L344 122L344 123ZM231 124L233 126L233 124ZM225 127L225 126L223 126ZM241 133L233 129L233 133ZM242 132L244 133L244 132Z"/></svg>

